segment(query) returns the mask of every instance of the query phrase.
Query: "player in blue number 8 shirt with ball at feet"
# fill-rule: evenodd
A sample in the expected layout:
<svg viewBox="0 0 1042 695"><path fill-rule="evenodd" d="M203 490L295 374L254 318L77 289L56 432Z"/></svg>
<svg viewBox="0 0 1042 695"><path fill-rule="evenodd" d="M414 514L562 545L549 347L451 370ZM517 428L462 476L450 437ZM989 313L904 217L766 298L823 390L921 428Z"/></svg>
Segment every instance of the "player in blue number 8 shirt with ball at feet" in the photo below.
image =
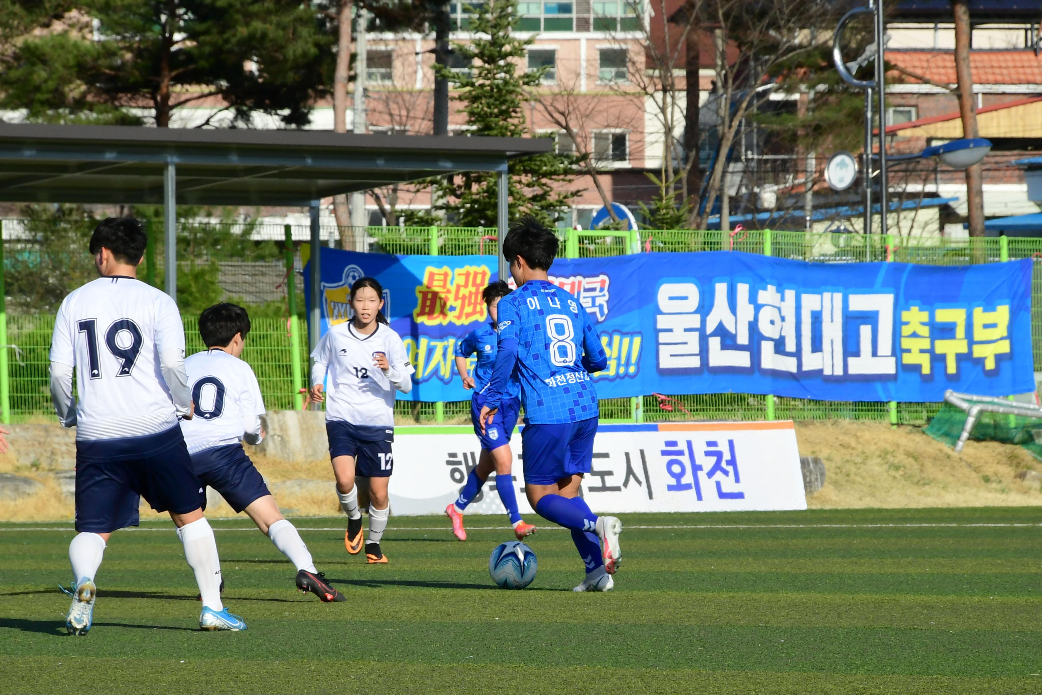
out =
<svg viewBox="0 0 1042 695"><path fill-rule="evenodd" d="M516 366L528 501L544 519L571 529L587 571L575 591L611 591L622 560L622 522L598 517L578 497L599 416L590 374L603 369L607 357L586 309L547 277L556 253L557 238L532 217L516 222L503 240L518 290L499 302L499 351L480 421L487 428L494 419Z"/></svg>

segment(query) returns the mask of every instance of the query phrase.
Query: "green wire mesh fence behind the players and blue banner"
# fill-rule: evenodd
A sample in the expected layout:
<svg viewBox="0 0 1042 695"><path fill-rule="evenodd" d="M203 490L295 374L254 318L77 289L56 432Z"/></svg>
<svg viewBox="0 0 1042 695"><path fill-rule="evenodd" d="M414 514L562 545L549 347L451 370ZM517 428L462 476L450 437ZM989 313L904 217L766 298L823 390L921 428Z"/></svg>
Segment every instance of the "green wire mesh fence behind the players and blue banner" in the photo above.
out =
<svg viewBox="0 0 1042 695"><path fill-rule="evenodd" d="M8 301L10 403L15 420L50 419L48 351L53 314L61 298L96 276L86 243L94 221L4 220L4 277ZM253 367L269 408L294 406L292 339L288 291L296 296L303 326L301 242L309 228L251 223L183 222L178 229L178 303L182 307L189 353L203 348L197 329L198 313L217 301L245 305L252 330L243 357ZM151 249L142 277L164 286L163 240L153 225ZM325 228L329 245L340 240L365 240L371 252L465 255L496 253L496 230L481 227L366 227ZM561 229L562 248L569 257L605 257L631 252L734 250L770 254L813 263L903 262L960 266L1034 258L1032 327L1036 369L1042 365L1042 240L944 239L938 237L864 237L801 231L641 230L581 231ZM289 240L289 242L287 242ZM287 250L294 272L287 270ZM307 338L301 330L301 374L307 374ZM306 376L305 376L306 378ZM769 404L769 400L773 403ZM762 420L773 411L779 419L891 420L922 424L940 403L820 401L770 398L754 394L651 394L641 398L600 401L604 420L645 422L668 420ZM469 401L413 403L399 401L399 422L469 422Z"/></svg>

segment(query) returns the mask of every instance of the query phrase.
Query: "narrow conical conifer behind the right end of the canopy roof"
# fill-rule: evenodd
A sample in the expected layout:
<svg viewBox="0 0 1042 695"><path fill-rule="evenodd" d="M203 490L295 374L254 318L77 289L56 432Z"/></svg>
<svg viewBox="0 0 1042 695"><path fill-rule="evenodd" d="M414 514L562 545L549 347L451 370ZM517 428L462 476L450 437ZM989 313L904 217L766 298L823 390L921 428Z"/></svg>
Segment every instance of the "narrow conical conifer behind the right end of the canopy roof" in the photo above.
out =
<svg viewBox="0 0 1042 695"><path fill-rule="evenodd" d="M526 91L538 86L543 70L525 71L520 63L535 39L518 39L512 29L519 19L516 0L491 0L471 7L469 31L476 34L469 44L454 44L453 50L469 71L444 69L443 74L460 91L467 115L467 134L522 138L531 134L525 123ZM578 192L563 191L575 178L572 155L549 152L513 159L510 173L510 216L524 214L552 223L567 210ZM453 224L495 227L497 222L497 175L480 172L442 179L435 185L441 210Z"/></svg>

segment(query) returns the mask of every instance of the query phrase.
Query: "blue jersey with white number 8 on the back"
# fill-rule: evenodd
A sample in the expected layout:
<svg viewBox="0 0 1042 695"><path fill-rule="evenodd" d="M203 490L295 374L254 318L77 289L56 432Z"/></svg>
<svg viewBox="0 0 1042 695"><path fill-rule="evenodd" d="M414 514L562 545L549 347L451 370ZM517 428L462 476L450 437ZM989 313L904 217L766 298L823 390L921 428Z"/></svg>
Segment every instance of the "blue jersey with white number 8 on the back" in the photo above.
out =
<svg viewBox="0 0 1042 695"><path fill-rule="evenodd" d="M528 280L499 300L499 352L486 402L496 407L517 365L525 421L579 422L599 415L593 372L607 364L589 315L570 293Z"/></svg>

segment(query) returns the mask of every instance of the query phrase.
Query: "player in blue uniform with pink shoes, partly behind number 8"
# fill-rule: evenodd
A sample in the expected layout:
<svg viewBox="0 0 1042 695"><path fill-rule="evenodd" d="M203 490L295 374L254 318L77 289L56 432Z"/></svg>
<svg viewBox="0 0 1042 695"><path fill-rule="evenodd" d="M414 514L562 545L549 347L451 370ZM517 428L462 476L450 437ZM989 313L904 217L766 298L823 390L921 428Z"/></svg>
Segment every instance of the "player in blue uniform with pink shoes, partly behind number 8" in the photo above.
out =
<svg viewBox="0 0 1042 695"><path fill-rule="evenodd" d="M514 425L517 424L518 412L521 408L518 396L521 387L516 377L511 376L506 393L499 402L499 409L486 428L482 429L478 417L481 405L485 404L483 391L489 386L489 377L492 376L492 365L496 362L496 311L499 300L510 293L511 288L503 280L497 280L485 288L481 298L489 308L490 323L475 328L456 343L456 371L463 377L463 388L474 390L470 400L470 419L474 423L474 433L481 442L481 455L477 466L471 469L470 475L467 476L467 482L460 491L458 499L445 507L445 516L452 521L452 532L461 541L467 540L467 530L463 527L463 511L477 496L493 470L496 471L496 492L506 507L506 514L510 515L511 525L514 526L514 533L518 540L521 541L536 532L535 526L526 524L521 519L517 495L514 492L514 478L511 475L511 465L514 461L511 453L511 436L514 433ZM467 374L467 357L474 353L477 353L477 364L474 365L474 375L471 376ZM503 480L505 482L502 482Z"/></svg>

